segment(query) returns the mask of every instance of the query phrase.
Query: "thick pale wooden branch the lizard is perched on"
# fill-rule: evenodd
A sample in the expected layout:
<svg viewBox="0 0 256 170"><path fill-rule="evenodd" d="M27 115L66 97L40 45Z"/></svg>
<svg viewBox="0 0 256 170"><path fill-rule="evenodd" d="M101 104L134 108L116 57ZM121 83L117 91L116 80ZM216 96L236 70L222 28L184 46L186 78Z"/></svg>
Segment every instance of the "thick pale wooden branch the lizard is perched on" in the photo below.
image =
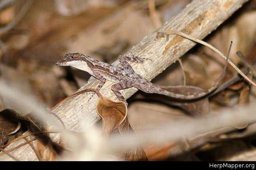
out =
<svg viewBox="0 0 256 170"><path fill-rule="evenodd" d="M177 30L186 33L192 37L203 39L222 22L229 18L238 8L248 0L194 0L179 15L172 18L157 31ZM152 80L169 65L174 63L196 43L184 39L180 36L170 36L169 40L156 40L156 33L145 37L139 44L134 46L130 52L139 57L146 57L143 64L131 63L136 73L147 80ZM113 63L118 65L116 61ZM99 81L90 78L87 85L82 89L95 88ZM110 87L112 82L107 81L101 93L111 99L117 100ZM122 91L124 97L128 99L137 91L136 88L125 89ZM56 107L53 112L56 113L65 123L67 129L81 132L84 123L92 125L100 117L95 111L98 97L94 97L87 102L91 93L84 93ZM11 154L21 160L36 160L36 156L29 146L24 146ZM0 160L11 160L6 155L0 156Z"/></svg>

